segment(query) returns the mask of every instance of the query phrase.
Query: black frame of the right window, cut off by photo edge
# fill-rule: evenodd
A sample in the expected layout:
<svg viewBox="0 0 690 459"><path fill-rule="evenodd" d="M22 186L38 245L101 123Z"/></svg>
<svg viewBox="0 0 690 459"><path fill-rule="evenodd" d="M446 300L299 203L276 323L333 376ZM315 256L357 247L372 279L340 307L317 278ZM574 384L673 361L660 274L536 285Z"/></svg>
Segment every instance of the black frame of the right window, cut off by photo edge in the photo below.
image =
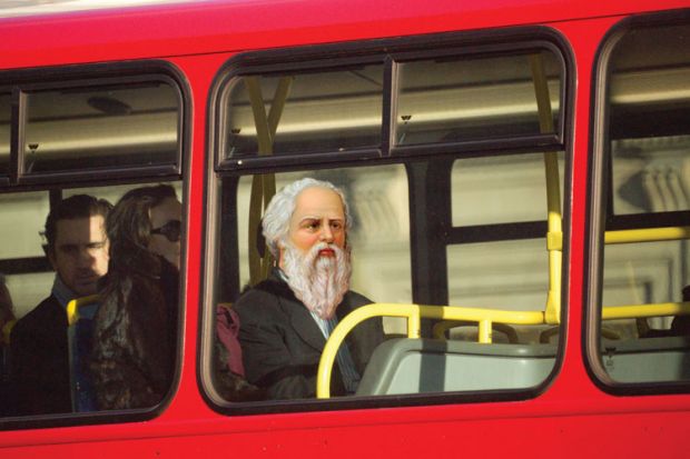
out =
<svg viewBox="0 0 690 459"><path fill-rule="evenodd" d="M592 70L592 116L590 117L590 164L585 217L585 252L583 262L582 355L590 379L602 391L613 396L690 393L690 380L620 382L612 379L601 359L601 313L603 299L604 232L611 229L683 226L690 211L615 214L612 211L612 154L609 141L610 61L623 36L633 29L688 24L690 10L642 13L622 19L602 39ZM649 217L653 217L650 219Z"/></svg>

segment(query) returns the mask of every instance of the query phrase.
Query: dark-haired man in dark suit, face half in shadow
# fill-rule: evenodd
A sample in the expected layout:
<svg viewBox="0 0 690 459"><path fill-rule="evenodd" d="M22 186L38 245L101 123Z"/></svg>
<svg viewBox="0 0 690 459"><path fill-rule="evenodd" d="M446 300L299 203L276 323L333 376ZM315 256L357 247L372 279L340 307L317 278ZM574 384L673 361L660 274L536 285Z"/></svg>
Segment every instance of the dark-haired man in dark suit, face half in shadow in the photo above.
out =
<svg viewBox="0 0 690 459"><path fill-rule="evenodd" d="M106 217L111 204L86 194L56 206L43 247L56 270L51 293L10 335L10 381L16 415L71 412L67 305L97 292L108 271Z"/></svg>

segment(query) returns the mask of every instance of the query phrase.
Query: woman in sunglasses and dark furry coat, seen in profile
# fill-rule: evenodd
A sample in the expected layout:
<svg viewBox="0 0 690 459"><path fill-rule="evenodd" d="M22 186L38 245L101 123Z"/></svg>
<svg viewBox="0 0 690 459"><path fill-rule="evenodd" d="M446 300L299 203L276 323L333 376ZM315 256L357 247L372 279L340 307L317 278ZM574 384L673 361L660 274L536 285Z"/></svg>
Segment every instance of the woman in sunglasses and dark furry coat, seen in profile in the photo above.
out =
<svg viewBox="0 0 690 459"><path fill-rule="evenodd" d="M110 265L93 318L97 407L152 407L175 369L181 204L167 184L128 191L108 217Z"/></svg>

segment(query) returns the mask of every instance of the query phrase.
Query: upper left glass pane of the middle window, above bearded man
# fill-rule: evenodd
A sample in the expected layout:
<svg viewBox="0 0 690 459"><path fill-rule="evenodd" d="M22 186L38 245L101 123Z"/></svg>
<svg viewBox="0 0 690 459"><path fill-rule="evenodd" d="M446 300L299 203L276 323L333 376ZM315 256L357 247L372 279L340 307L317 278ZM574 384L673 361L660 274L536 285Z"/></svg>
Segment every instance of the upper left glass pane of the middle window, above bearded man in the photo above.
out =
<svg viewBox="0 0 690 459"><path fill-rule="evenodd" d="M379 64L236 78L224 94L223 157L377 148L382 94Z"/></svg>

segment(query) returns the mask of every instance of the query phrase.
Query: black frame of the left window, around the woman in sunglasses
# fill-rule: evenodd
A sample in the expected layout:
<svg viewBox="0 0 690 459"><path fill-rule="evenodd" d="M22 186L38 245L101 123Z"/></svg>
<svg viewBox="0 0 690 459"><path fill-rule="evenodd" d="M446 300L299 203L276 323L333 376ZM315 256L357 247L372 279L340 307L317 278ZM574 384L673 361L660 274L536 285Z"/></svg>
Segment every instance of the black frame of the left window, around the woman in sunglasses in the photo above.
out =
<svg viewBox="0 0 690 459"><path fill-rule="evenodd" d="M156 76L157 78L151 78ZM138 78L139 77L139 78ZM112 422L137 422L151 420L159 417L171 403L177 393L181 379L183 357L184 357L184 330L187 310L187 253L188 253L188 231L189 222L189 177L190 177L190 153L191 153L191 90L184 72L174 63L164 60L141 60L127 62L105 62L98 64L78 64L60 68L37 68L29 70L8 70L0 72L0 87L30 86L42 89L52 89L61 83L73 87L79 82L92 81L156 81L165 77L178 94L179 118L178 118L178 140L177 140L177 164L174 168L160 167L137 167L137 168L103 168L85 173L46 173L39 180L0 182L1 193L16 193L24 191L45 191L49 193L51 206L53 201L61 197L61 190L71 188L99 187L106 188L115 184L146 184L146 183L169 183L181 182L181 196L178 198L183 202L183 228L180 240L180 268L179 268L179 303L176 329L175 349L175 372L170 382L170 388L162 400L156 406L148 408L137 408L130 410L99 410L92 412L66 412L58 415L36 415L36 416L11 416L0 417L0 429L22 430L22 429L45 429L53 427L72 426L96 426ZM17 81L17 84L11 84ZM23 81L27 81L24 84ZM6 84L6 82L9 82ZM19 90L19 89L17 89ZM14 108L13 108L14 109ZM17 118L12 119L12 130L20 128ZM12 131L12 136L14 132ZM17 160L16 138L11 140L12 152L10 157ZM11 159L12 161L12 159ZM14 169L17 170L17 169ZM11 171L10 171L11 172ZM115 202L114 202L115 204ZM2 265L2 263L0 263ZM33 262L32 267L47 267L43 262Z"/></svg>

